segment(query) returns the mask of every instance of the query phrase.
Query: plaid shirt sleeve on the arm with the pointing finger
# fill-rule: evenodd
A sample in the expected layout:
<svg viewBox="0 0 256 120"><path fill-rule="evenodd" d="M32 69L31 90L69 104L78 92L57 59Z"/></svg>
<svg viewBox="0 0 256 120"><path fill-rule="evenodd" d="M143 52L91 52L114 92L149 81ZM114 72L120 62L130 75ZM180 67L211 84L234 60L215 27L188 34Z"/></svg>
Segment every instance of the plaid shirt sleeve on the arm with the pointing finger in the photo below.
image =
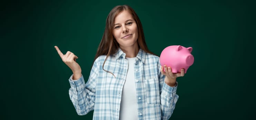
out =
<svg viewBox="0 0 256 120"><path fill-rule="evenodd" d="M93 63L87 83L85 83L83 76L81 76L78 80L72 80L73 75L71 75L69 78L69 83L71 86L69 89L69 97L78 115L86 115L94 108L95 88L98 76L98 65L96 60Z"/></svg>

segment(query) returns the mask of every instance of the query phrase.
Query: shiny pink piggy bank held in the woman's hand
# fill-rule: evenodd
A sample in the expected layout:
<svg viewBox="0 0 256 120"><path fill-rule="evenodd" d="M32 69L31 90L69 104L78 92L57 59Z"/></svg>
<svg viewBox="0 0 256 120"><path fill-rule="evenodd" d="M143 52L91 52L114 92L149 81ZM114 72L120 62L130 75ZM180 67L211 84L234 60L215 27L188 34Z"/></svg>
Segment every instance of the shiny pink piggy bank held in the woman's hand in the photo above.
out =
<svg viewBox="0 0 256 120"><path fill-rule="evenodd" d="M180 72L182 68L185 69L186 73L188 68L194 63L194 57L191 55L192 50L192 47L168 46L161 52L160 64L161 66L171 67L173 73Z"/></svg>

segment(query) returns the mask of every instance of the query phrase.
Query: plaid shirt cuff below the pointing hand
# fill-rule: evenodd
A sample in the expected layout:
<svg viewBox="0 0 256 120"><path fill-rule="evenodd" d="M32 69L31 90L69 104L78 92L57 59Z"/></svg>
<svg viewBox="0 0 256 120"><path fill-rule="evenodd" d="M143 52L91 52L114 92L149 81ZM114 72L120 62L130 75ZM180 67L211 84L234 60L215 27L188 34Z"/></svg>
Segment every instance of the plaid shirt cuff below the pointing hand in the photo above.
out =
<svg viewBox="0 0 256 120"><path fill-rule="evenodd" d="M83 79L83 75L78 80L72 80L73 74L69 78L70 86L73 90L81 91L85 86L85 80Z"/></svg>

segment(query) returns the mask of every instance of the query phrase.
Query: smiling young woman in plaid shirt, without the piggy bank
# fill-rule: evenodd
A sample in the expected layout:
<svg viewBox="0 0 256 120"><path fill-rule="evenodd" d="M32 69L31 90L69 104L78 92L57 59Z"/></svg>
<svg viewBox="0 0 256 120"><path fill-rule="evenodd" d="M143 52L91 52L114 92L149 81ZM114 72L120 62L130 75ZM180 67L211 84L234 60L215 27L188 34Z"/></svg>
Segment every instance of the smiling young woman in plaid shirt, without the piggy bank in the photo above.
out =
<svg viewBox="0 0 256 120"><path fill-rule="evenodd" d="M108 14L105 32L85 83L78 58L55 46L72 70L69 96L78 115L94 110L94 120L167 120L178 100L176 78L170 67L147 48L141 22L128 5ZM165 70L165 72L163 71Z"/></svg>

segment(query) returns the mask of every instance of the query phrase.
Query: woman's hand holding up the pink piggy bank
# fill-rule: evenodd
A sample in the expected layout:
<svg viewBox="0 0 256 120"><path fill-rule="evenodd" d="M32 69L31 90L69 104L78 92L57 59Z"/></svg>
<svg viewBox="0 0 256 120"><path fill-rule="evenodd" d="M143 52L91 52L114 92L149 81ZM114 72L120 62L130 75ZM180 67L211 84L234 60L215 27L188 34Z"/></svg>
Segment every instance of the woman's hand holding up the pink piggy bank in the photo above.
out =
<svg viewBox="0 0 256 120"><path fill-rule="evenodd" d="M165 72L163 69L165 69ZM176 84L176 78L185 75L185 70L181 69L181 72L173 73L171 71L171 67L167 67L166 65L164 65L164 67L161 66L161 73L165 75L165 83L173 87Z"/></svg>

